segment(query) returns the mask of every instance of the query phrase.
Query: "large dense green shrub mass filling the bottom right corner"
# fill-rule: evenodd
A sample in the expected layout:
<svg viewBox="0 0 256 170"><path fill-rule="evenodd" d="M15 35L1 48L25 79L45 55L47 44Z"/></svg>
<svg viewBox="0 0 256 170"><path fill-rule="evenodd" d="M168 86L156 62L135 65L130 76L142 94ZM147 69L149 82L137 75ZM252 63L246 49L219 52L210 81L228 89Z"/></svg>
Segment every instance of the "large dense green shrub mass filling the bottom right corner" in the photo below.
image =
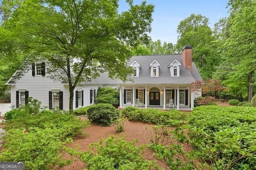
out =
<svg viewBox="0 0 256 170"><path fill-rule="evenodd" d="M189 141L194 155L212 162L212 169L255 169L255 113L254 107L196 107L188 118L188 138L182 131L177 139Z"/></svg>

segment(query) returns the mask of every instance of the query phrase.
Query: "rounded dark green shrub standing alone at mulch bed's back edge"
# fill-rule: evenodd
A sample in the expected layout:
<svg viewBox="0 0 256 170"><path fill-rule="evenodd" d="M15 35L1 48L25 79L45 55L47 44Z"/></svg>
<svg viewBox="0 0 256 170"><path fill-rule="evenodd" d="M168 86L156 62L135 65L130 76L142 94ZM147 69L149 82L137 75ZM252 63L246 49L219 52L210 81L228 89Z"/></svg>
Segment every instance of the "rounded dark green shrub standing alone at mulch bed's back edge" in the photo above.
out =
<svg viewBox="0 0 256 170"><path fill-rule="evenodd" d="M119 117L119 111L108 103L92 105L87 112L89 120L100 126L110 126Z"/></svg>

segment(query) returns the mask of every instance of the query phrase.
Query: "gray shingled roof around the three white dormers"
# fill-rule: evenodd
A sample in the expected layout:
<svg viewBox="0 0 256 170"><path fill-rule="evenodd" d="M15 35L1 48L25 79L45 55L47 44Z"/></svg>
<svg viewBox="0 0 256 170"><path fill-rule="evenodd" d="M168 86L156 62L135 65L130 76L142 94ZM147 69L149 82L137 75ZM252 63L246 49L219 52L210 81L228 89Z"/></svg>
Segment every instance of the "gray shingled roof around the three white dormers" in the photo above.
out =
<svg viewBox="0 0 256 170"><path fill-rule="evenodd" d="M159 77L150 77L150 63L156 61L160 64ZM180 66L180 77L171 77L170 69L168 65L177 59L182 65ZM190 84L195 80L202 81L202 77L196 68L196 65L192 63L192 75L189 69L186 69L182 63L182 54L176 55L140 55L134 56L130 59L128 64L130 65L136 60L141 68L139 77L132 77L134 82L123 83L119 79L108 78L108 73L102 73L97 79L93 79L91 82L84 82L85 84Z"/></svg>

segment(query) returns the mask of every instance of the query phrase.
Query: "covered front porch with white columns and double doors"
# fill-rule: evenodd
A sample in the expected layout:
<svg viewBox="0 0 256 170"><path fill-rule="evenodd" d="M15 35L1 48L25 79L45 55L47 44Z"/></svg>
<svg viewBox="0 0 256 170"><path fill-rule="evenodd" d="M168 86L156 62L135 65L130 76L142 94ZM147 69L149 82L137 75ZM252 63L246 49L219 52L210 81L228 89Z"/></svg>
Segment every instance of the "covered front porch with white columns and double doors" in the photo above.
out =
<svg viewBox="0 0 256 170"><path fill-rule="evenodd" d="M120 90L120 108L128 106L155 108L160 110L177 109L191 111L194 107L194 93L190 85L122 85Z"/></svg>

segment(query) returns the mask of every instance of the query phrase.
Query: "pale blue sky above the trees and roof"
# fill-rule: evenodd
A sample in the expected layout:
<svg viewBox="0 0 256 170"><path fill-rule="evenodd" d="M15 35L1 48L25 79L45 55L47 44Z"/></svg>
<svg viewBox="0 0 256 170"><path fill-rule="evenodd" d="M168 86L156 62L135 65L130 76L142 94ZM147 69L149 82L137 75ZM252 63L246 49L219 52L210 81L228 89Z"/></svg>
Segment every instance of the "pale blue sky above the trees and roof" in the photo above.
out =
<svg viewBox="0 0 256 170"><path fill-rule="evenodd" d="M142 0L134 0L134 4L140 4ZM152 41L177 42L177 28L180 21L188 18L192 13L202 14L209 18L210 28L220 18L228 17L228 0L146 0L147 4L154 4L152 32L149 35ZM119 1L119 11L128 10L126 0Z"/></svg>

